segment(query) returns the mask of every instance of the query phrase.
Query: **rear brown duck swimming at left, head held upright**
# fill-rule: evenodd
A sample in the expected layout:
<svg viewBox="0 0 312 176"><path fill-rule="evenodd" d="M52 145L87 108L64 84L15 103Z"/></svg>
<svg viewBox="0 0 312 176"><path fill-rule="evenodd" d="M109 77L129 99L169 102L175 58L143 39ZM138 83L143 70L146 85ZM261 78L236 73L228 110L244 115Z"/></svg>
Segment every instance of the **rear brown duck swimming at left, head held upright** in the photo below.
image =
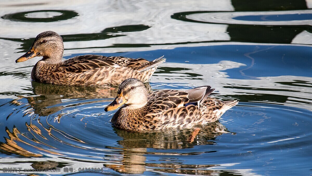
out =
<svg viewBox="0 0 312 176"><path fill-rule="evenodd" d="M24 62L42 56L32 69L31 79L39 83L78 86L118 86L127 78L149 81L163 56L154 61L142 58L100 55L75 56L62 61L64 45L62 37L53 31L37 35L30 49L16 60Z"/></svg>

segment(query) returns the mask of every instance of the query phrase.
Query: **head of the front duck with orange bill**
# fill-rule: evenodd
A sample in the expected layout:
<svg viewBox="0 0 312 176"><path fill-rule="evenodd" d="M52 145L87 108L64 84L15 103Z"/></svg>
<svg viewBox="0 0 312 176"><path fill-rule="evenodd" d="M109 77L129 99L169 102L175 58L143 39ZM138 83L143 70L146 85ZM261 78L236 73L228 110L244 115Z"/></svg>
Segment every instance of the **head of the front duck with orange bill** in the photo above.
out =
<svg viewBox="0 0 312 176"><path fill-rule="evenodd" d="M118 89L115 100L106 106L105 111L115 110L121 105L125 105L130 109L141 108L147 103L148 90L143 82L129 78L124 80Z"/></svg>

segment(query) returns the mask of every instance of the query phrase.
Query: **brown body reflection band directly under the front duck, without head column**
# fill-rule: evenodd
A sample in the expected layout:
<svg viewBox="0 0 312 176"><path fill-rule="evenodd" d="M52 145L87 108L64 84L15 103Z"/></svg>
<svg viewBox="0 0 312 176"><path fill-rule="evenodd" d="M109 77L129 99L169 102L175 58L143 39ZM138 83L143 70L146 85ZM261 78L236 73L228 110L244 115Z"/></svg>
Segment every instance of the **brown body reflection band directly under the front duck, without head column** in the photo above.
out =
<svg viewBox="0 0 312 176"><path fill-rule="evenodd" d="M215 139L231 133L219 121L194 129L164 130L150 133L133 133L114 129L123 138L117 141L124 148L185 149L194 145L216 144ZM234 134L234 133L233 133Z"/></svg>

